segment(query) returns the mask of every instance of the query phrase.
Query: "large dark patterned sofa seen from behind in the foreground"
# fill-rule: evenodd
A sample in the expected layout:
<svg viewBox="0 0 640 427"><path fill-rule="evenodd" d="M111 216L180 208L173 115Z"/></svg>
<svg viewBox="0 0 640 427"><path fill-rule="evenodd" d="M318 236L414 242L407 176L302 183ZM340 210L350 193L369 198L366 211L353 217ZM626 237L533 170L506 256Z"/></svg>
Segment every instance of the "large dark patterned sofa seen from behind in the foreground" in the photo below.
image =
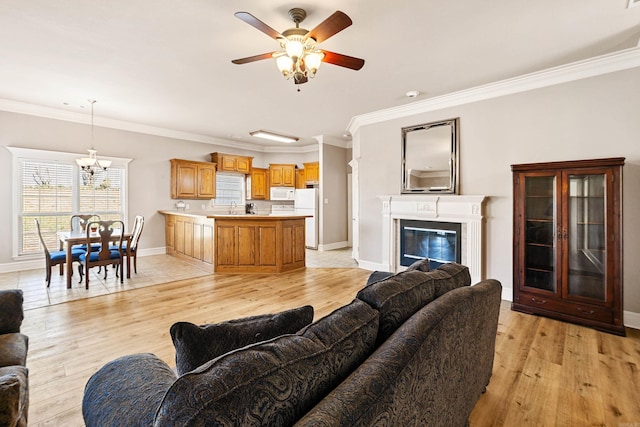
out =
<svg viewBox="0 0 640 427"><path fill-rule="evenodd" d="M109 362L87 382L85 423L467 425L491 377L501 285L469 286L469 271L458 264L422 269L372 275L350 304L295 333L270 333L264 317L257 329L255 318L226 325L221 337L239 327L253 338L200 366L186 363L195 359L181 355L184 342L176 345L178 375L152 354ZM220 329L171 333L174 344L198 330L216 341L211 328ZM192 344L202 356L211 342Z"/></svg>

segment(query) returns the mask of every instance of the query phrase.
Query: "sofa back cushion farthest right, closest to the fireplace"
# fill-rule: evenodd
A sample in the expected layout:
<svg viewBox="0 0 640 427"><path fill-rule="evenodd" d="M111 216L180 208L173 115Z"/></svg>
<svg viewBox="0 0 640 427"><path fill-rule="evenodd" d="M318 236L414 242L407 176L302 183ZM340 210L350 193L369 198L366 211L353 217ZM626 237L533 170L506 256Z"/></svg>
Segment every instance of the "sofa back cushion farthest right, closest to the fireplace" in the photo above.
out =
<svg viewBox="0 0 640 427"><path fill-rule="evenodd" d="M380 311L377 340L380 345L425 304L451 289L469 284L469 269L448 263L429 272L403 271L371 283L358 292L357 298Z"/></svg>

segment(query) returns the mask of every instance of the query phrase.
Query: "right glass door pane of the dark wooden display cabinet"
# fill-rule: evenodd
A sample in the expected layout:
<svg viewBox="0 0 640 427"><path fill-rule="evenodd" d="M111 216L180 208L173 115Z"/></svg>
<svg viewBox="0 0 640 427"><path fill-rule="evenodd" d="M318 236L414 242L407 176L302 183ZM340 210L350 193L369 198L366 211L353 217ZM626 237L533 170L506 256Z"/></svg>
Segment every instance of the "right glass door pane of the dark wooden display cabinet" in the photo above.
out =
<svg viewBox="0 0 640 427"><path fill-rule="evenodd" d="M605 300L606 180L569 174L567 204L569 296Z"/></svg>

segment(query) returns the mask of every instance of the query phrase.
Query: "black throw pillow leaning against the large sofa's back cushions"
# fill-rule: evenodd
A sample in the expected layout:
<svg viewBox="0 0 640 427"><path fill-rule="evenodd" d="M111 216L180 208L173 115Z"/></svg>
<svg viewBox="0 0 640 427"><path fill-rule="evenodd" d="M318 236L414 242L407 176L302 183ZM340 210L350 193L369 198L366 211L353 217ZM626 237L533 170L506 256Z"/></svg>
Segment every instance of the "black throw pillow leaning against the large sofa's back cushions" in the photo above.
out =
<svg viewBox="0 0 640 427"><path fill-rule="evenodd" d="M176 348L178 375L215 359L231 350L284 334L295 334L313 321L310 305L277 314L263 314L226 322L194 325L178 322L171 326Z"/></svg>

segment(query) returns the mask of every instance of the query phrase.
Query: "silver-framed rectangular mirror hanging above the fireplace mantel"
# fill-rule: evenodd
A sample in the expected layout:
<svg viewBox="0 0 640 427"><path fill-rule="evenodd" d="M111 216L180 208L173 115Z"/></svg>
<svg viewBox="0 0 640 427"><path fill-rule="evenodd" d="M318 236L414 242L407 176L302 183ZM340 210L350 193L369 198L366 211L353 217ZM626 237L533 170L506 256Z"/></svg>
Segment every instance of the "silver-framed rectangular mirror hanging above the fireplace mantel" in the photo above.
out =
<svg viewBox="0 0 640 427"><path fill-rule="evenodd" d="M458 122L402 128L402 193L458 193Z"/></svg>

